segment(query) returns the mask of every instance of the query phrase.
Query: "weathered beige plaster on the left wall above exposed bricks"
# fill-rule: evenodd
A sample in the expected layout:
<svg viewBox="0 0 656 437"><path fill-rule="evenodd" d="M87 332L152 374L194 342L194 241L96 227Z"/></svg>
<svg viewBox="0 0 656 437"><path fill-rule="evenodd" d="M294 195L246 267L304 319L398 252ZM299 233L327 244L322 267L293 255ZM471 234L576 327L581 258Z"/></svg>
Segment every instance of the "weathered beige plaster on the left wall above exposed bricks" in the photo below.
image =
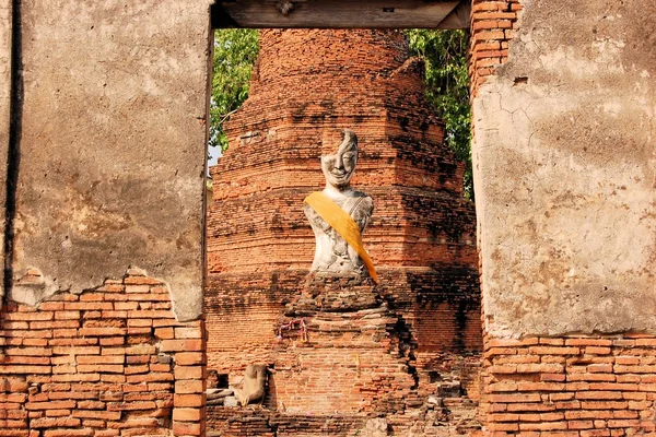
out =
<svg viewBox="0 0 656 437"><path fill-rule="evenodd" d="M179 319L200 316L209 2L21 4L11 297L79 293L132 265L165 281ZM26 272L42 283L22 285Z"/></svg>

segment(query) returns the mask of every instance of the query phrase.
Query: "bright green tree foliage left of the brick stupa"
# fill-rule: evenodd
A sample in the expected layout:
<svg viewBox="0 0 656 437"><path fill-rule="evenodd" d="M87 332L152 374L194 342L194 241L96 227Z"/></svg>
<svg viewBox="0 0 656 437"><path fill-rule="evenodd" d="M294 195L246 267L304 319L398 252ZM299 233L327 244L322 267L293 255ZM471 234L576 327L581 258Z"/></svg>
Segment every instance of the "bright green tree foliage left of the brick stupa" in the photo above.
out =
<svg viewBox="0 0 656 437"><path fill-rule="evenodd" d="M214 33L209 145L221 147L221 152L227 149L223 122L248 97L250 72L258 51L259 40L256 29L224 28Z"/></svg>

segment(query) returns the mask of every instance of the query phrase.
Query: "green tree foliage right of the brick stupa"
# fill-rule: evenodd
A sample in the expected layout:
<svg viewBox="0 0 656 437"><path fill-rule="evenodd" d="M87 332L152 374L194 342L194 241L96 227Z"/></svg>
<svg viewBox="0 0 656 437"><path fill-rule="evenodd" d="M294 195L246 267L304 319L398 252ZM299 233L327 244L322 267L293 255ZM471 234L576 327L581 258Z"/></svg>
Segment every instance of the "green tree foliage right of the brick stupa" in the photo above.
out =
<svg viewBox="0 0 656 437"><path fill-rule="evenodd" d="M465 196L473 200L467 47L464 31L406 31L412 55L424 60L426 98L446 123L445 141L465 162Z"/></svg>

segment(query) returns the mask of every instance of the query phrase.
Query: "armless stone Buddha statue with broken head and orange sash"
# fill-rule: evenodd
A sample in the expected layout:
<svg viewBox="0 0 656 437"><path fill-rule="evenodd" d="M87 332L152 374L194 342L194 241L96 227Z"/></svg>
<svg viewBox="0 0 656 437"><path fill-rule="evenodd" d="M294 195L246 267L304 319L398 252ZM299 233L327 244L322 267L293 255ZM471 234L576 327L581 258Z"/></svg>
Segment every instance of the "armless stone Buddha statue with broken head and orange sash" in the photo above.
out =
<svg viewBox="0 0 656 437"><path fill-rule="evenodd" d="M304 201L304 212L316 239L312 271L335 276L371 276L376 281L361 237L374 211L374 201L351 188L356 163L358 137L344 129L337 153L321 156L326 188Z"/></svg>

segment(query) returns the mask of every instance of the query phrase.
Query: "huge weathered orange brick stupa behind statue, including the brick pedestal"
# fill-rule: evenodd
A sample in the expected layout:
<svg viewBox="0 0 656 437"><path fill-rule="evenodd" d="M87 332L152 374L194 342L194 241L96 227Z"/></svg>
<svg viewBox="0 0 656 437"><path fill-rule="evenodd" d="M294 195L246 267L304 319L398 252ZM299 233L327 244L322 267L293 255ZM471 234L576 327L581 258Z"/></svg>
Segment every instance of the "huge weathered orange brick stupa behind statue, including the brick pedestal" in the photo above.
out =
<svg viewBox="0 0 656 437"><path fill-rule="evenodd" d="M250 364L270 375L259 422L210 406L210 426L225 435L347 435L374 416L395 433L438 435L471 413L475 211L424 101L422 68L399 32L261 31L250 96L211 168L204 308L208 368L221 385ZM308 275L315 238L303 199L323 188L319 157L342 129L359 139L352 185L375 204L363 235L375 286Z"/></svg>

